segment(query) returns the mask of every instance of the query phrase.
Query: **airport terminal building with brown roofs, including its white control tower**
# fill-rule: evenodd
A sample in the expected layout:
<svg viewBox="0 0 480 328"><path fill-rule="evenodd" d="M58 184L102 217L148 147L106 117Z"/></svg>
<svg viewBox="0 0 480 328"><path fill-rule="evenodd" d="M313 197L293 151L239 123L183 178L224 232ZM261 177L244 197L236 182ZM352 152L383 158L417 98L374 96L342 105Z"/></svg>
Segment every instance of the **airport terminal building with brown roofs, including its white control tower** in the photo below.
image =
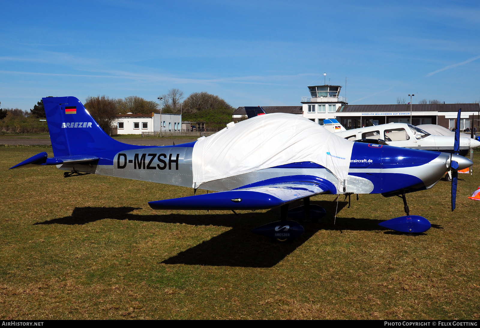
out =
<svg viewBox="0 0 480 328"><path fill-rule="evenodd" d="M268 113L302 115L315 123L324 119L336 119L346 129L356 129L386 123L438 124L447 129L455 128L457 111L462 109L460 129L479 125L480 106L474 104L414 104L414 105L348 105L340 96L340 85L309 86L309 97L301 98L301 106L263 106ZM410 112L411 111L411 112ZM245 108L238 107L233 120L246 117Z"/></svg>

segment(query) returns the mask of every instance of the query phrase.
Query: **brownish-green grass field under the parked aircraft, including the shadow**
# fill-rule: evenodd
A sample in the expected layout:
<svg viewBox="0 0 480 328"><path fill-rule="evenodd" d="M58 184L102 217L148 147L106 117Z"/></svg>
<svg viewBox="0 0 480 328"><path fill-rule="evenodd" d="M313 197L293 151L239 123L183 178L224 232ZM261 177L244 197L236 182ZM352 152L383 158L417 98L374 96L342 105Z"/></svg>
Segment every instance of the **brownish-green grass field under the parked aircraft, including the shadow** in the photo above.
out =
<svg viewBox="0 0 480 328"><path fill-rule="evenodd" d="M460 175L408 194L432 223L399 234L403 213L381 195L339 202L306 233L277 243L250 233L279 210L153 211L149 200L192 189L105 176L63 178L53 167L7 170L45 147L0 147L0 316L70 318L478 319L480 184ZM343 200L343 196L341 196Z"/></svg>

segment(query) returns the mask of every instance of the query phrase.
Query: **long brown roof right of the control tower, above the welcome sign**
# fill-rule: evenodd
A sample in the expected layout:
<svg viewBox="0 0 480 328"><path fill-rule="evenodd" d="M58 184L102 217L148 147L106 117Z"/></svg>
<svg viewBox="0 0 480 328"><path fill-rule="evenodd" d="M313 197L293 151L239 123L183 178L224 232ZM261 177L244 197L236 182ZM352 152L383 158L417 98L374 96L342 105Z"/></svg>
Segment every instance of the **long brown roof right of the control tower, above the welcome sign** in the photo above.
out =
<svg viewBox="0 0 480 328"><path fill-rule="evenodd" d="M264 107L265 108L265 107ZM412 112L463 112L480 111L479 104L413 104ZM409 112L410 105L344 105L337 112Z"/></svg>

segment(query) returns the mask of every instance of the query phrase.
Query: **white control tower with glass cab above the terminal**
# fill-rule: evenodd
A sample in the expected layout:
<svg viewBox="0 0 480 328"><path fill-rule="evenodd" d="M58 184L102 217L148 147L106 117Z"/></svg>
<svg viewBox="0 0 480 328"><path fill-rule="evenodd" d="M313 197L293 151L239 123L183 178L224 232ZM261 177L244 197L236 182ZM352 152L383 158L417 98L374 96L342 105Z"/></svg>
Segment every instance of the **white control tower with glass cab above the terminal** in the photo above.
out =
<svg viewBox="0 0 480 328"><path fill-rule="evenodd" d="M302 97L303 116L320 125L324 119L336 117L336 111L347 105L347 98L340 96L341 85L312 85L308 87L310 97Z"/></svg>

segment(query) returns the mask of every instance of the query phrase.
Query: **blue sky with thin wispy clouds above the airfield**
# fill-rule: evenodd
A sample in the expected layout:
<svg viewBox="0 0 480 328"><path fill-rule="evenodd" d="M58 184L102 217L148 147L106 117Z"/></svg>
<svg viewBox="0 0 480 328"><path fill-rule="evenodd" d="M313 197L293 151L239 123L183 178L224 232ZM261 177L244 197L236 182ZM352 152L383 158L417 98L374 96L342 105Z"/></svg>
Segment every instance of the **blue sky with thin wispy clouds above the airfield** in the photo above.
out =
<svg viewBox="0 0 480 328"><path fill-rule="evenodd" d="M1 1L1 107L43 96L206 91L300 105L307 85L350 104L480 99L479 1ZM330 79L330 80L329 80ZM345 88L341 95L345 95ZM415 103L414 99L414 103Z"/></svg>

